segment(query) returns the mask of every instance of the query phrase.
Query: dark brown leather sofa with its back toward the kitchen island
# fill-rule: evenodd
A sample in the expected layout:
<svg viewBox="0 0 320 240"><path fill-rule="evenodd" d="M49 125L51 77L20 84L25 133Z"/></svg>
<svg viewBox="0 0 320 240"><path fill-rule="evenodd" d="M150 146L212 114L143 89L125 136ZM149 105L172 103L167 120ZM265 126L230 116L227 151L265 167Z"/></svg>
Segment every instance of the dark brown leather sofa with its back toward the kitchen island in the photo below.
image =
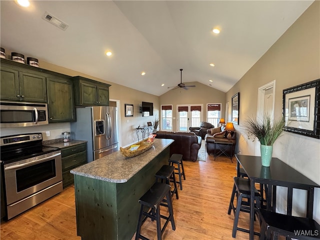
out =
<svg viewBox="0 0 320 240"><path fill-rule="evenodd" d="M182 154L183 160L195 161L201 146L201 137L193 132L157 131L155 138L173 139L170 145L170 155Z"/></svg>

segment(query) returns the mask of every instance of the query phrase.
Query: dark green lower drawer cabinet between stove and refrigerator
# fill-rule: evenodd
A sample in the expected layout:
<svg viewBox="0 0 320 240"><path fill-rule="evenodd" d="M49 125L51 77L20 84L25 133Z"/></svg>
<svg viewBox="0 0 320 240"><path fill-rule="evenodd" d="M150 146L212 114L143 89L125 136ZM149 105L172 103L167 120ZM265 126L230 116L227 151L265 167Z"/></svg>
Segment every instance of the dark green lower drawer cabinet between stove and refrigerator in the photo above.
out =
<svg viewBox="0 0 320 240"><path fill-rule="evenodd" d="M73 174L70 173L70 170L86 163L86 143L60 149L62 158L62 183L64 188L73 184Z"/></svg>

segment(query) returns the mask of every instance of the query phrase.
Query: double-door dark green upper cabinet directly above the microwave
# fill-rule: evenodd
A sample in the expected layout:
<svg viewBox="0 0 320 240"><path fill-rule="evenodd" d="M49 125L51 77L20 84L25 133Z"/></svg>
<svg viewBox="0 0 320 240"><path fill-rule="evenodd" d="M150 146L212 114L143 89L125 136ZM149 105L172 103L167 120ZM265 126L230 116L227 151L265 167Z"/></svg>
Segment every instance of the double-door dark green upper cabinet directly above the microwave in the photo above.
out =
<svg viewBox="0 0 320 240"><path fill-rule="evenodd" d="M34 66L1 59L0 99L46 102L46 79Z"/></svg>

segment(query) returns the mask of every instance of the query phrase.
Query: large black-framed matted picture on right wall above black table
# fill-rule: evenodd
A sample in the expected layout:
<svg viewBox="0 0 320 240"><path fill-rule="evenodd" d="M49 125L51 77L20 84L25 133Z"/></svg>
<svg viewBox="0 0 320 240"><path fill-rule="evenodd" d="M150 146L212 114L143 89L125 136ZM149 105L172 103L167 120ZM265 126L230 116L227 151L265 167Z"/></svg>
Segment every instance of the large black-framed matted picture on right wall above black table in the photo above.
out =
<svg viewBox="0 0 320 240"><path fill-rule="evenodd" d="M320 138L320 79L283 90L285 131Z"/></svg>

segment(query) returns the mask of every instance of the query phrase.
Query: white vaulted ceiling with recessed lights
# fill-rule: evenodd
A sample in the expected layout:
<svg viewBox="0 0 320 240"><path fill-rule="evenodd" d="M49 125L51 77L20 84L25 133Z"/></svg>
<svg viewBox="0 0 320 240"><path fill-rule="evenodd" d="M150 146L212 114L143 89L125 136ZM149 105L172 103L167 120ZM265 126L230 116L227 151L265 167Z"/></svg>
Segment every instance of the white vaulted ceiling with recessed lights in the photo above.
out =
<svg viewBox="0 0 320 240"><path fill-rule="evenodd" d="M180 82L180 68L182 82L226 92L312 2L31 0L24 8L1 0L0 44L154 95Z"/></svg>

